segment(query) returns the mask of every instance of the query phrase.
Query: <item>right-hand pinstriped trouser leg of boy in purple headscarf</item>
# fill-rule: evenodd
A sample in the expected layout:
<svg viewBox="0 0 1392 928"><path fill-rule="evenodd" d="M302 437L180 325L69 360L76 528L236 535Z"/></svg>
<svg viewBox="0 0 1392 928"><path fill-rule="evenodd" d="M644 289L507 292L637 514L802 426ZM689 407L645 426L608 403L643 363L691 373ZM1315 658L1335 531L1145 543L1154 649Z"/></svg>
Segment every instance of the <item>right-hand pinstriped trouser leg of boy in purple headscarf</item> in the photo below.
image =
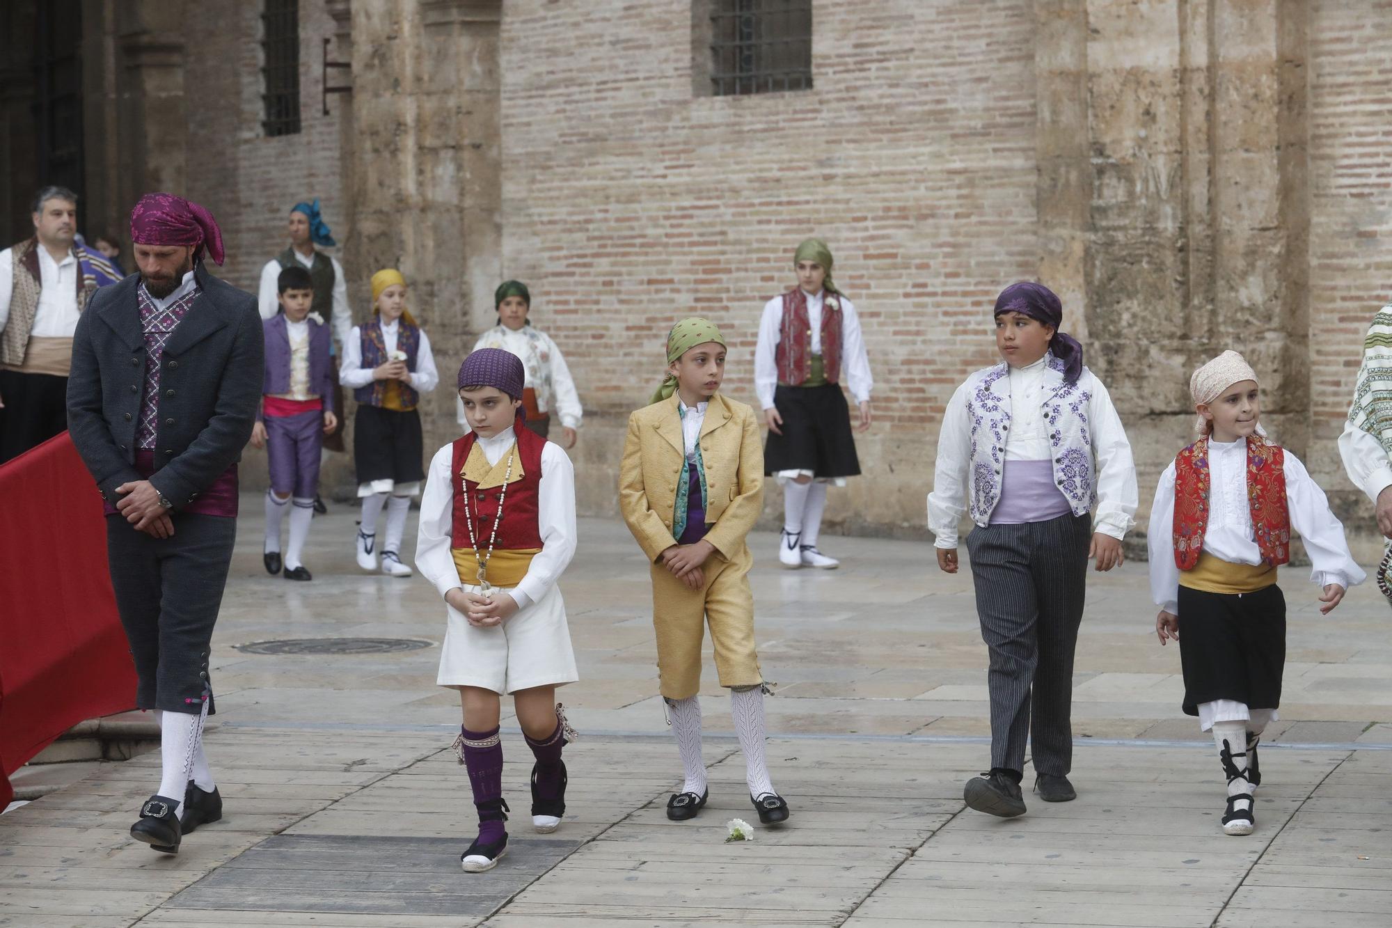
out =
<svg viewBox="0 0 1392 928"><path fill-rule="evenodd" d="M1091 518L1063 516L1030 528L1038 602L1030 755L1036 773L1066 776L1073 764L1073 652L1083 621Z"/></svg>

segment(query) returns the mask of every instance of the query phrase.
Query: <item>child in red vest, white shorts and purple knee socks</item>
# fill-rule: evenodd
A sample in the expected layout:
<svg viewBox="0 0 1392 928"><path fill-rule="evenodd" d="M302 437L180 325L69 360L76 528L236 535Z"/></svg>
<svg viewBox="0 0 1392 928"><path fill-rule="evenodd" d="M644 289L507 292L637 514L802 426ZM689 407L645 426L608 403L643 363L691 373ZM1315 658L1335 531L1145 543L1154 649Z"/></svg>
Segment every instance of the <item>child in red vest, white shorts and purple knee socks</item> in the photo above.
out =
<svg viewBox="0 0 1392 928"><path fill-rule="evenodd" d="M501 694L536 755L532 825L554 832L565 815L561 748L575 740L555 687L574 683L575 654L555 587L575 555L575 471L560 444L523 425L522 361L482 348L459 366L469 426L430 461L420 500L416 567L444 596L443 687L459 691L464 727L454 747L469 771L479 836L462 854L468 874L507 851Z"/></svg>

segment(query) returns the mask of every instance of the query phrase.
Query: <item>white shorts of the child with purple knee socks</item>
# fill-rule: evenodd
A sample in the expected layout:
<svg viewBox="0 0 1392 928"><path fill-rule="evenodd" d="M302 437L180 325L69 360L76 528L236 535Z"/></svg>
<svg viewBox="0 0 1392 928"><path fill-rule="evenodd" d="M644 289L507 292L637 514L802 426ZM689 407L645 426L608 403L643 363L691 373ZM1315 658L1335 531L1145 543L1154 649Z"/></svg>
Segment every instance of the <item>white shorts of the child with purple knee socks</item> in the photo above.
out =
<svg viewBox="0 0 1392 928"><path fill-rule="evenodd" d="M479 591L477 587L464 589ZM565 602L555 587L537 602L504 619L501 626L490 628L470 626L464 613L450 603L445 603L445 610L448 619L436 684L516 693L579 680L571 628L565 623Z"/></svg>

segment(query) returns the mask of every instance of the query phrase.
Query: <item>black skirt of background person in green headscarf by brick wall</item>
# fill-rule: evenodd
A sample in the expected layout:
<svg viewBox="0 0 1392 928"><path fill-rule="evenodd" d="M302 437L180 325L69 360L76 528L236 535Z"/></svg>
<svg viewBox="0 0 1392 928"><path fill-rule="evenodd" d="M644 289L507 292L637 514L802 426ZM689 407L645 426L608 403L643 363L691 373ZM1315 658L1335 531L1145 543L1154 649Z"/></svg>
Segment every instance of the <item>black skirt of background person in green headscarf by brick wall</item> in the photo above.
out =
<svg viewBox="0 0 1392 928"><path fill-rule="evenodd" d="M846 396L835 383L774 390L782 435L768 431L764 477L778 471L812 471L814 477L856 477L860 458L851 433Z"/></svg>

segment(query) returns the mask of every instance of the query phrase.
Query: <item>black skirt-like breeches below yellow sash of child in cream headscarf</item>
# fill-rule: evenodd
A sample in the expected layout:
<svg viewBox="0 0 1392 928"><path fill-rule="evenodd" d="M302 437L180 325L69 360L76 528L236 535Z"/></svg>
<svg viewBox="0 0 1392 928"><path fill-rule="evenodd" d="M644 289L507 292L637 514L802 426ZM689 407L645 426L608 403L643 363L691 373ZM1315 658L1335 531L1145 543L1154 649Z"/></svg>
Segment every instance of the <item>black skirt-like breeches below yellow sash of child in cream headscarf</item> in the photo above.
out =
<svg viewBox="0 0 1392 928"><path fill-rule="evenodd" d="M1281 706L1286 663L1286 598L1275 584L1250 594L1179 588L1179 663L1185 712L1233 699L1249 709Z"/></svg>

